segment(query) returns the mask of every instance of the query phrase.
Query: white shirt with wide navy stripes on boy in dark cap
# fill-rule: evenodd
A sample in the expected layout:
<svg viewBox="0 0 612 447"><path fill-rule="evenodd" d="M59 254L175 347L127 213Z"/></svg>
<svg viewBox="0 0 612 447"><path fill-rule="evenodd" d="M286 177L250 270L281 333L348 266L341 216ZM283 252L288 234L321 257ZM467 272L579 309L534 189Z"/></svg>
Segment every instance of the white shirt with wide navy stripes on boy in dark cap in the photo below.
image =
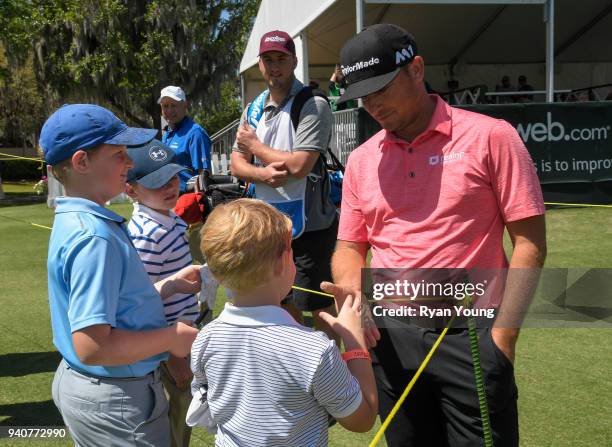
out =
<svg viewBox="0 0 612 447"><path fill-rule="evenodd" d="M128 230L153 283L193 263L185 235L187 224L174 212L166 216L134 203ZM178 319L193 321L198 316L198 302L195 295L177 293L164 300L164 312L168 324Z"/></svg>

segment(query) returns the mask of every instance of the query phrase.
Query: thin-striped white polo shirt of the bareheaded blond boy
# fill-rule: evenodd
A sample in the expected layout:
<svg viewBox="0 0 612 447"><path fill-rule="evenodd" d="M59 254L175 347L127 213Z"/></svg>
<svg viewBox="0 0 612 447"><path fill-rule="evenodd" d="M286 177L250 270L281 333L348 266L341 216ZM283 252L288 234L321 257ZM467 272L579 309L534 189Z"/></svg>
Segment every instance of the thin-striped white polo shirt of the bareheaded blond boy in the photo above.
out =
<svg viewBox="0 0 612 447"><path fill-rule="evenodd" d="M328 414L347 417L362 394L323 332L281 307L236 307L198 334L192 394L207 387L216 446L326 446Z"/></svg>

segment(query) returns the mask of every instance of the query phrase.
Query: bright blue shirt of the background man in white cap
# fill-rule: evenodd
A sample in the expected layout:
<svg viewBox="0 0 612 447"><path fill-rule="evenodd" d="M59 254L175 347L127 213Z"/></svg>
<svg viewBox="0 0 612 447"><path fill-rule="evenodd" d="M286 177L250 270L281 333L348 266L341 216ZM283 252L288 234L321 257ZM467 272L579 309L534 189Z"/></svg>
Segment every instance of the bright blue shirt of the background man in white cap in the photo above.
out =
<svg viewBox="0 0 612 447"><path fill-rule="evenodd" d="M197 175L199 169L210 170L210 138L202 126L191 118L183 118L174 130L168 127L162 135L162 143L176 153L175 163L193 169L192 172L179 172L181 192L185 191L187 181Z"/></svg>

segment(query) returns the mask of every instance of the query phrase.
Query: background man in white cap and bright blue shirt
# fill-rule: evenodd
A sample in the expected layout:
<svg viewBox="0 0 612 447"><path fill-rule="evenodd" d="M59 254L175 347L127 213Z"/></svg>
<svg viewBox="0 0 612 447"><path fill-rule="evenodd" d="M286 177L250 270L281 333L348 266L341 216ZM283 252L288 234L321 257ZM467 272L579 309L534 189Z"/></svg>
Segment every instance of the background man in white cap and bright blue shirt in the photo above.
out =
<svg viewBox="0 0 612 447"><path fill-rule="evenodd" d="M179 172L183 193L191 177L204 169L211 169L210 138L199 124L187 116L189 102L182 88L173 85L163 88L157 102L168 123L164 128L162 143L175 152L176 163L191 170Z"/></svg>

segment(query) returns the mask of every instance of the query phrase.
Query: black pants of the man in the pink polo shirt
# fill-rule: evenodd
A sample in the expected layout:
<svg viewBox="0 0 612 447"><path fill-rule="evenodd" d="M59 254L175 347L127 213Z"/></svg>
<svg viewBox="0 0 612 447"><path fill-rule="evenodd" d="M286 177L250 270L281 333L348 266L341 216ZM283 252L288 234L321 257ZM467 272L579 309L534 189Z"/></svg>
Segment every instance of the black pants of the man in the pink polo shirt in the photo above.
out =
<svg viewBox="0 0 612 447"><path fill-rule="evenodd" d="M479 328L480 358L495 447L518 446L514 369ZM416 326L381 329L373 364L381 421L404 391L442 331ZM467 329L451 329L385 432L389 447L484 445Z"/></svg>

